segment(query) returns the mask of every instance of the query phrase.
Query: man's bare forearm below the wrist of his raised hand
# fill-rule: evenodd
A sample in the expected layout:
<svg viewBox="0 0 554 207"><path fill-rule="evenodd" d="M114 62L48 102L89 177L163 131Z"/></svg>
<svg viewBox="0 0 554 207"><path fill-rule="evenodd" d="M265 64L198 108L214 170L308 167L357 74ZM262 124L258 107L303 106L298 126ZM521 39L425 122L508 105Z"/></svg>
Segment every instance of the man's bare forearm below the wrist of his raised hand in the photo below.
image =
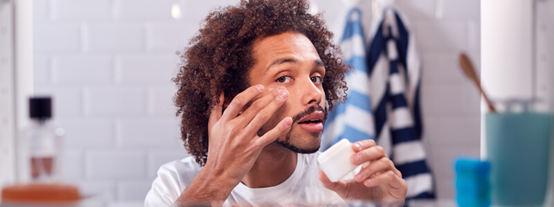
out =
<svg viewBox="0 0 554 207"><path fill-rule="evenodd" d="M204 166L190 182L181 196L175 202L175 206L187 206L187 204L207 203L211 201L224 201L240 180L235 180L214 172L209 166Z"/></svg>

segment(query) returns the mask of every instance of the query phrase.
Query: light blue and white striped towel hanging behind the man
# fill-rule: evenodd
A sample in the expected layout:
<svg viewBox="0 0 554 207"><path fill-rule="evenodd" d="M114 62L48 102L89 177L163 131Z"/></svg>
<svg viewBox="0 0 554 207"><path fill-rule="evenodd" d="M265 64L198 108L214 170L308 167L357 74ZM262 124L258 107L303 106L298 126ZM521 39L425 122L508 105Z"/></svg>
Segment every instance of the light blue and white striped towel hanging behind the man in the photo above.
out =
<svg viewBox="0 0 554 207"><path fill-rule="evenodd" d="M337 105L325 122L321 139L322 150L342 138L351 142L375 139L371 112L369 72L366 65L364 29L361 26L361 10L352 8L346 16L341 38L344 60L355 68L345 75L348 83L348 99Z"/></svg>

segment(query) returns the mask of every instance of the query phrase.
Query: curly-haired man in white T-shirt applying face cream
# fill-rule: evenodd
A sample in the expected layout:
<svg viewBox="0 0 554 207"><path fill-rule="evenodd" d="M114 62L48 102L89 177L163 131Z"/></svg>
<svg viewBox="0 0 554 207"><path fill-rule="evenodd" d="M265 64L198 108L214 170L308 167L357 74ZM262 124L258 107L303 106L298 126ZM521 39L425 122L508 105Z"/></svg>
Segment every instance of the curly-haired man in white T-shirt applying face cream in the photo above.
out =
<svg viewBox="0 0 554 207"><path fill-rule="evenodd" d="M193 157L161 166L146 206L400 201L406 181L373 140L352 145L354 179L319 172L327 110L348 71L304 0L241 1L211 12L174 79L181 137ZM368 126L369 127L369 126Z"/></svg>

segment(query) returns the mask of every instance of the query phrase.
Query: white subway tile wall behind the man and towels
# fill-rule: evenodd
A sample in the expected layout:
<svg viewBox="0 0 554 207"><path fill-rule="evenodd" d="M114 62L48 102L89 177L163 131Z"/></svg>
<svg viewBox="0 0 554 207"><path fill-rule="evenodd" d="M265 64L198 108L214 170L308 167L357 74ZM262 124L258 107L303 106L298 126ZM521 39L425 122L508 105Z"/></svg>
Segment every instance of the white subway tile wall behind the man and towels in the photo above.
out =
<svg viewBox="0 0 554 207"><path fill-rule="evenodd" d="M140 201L161 164L188 156L172 96L179 57L210 10L235 0L35 0L35 92L66 128L66 180L84 194ZM312 0L331 28L341 1ZM452 199L452 161L479 156L479 93L458 68L480 66L479 0L397 0L422 59L424 142L437 195ZM370 22L371 3L361 6ZM172 14L173 10L173 14ZM369 29L369 28L366 28Z"/></svg>

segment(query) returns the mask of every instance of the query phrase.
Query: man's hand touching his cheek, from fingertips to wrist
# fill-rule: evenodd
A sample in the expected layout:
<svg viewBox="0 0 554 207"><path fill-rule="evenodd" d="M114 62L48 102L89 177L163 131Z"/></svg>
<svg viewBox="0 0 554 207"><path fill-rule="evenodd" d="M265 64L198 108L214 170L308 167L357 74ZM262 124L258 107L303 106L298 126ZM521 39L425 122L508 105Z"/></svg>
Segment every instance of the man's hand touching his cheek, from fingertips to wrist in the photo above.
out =
<svg viewBox="0 0 554 207"><path fill-rule="evenodd" d="M208 161L206 167L213 168L216 175L234 179L238 184L253 166L262 148L275 141L291 124L286 117L269 132L258 137L257 132L285 103L288 91L276 88L254 101L240 114L244 106L260 95L264 86L252 86L237 95L222 114L222 97L213 109L208 122Z"/></svg>

